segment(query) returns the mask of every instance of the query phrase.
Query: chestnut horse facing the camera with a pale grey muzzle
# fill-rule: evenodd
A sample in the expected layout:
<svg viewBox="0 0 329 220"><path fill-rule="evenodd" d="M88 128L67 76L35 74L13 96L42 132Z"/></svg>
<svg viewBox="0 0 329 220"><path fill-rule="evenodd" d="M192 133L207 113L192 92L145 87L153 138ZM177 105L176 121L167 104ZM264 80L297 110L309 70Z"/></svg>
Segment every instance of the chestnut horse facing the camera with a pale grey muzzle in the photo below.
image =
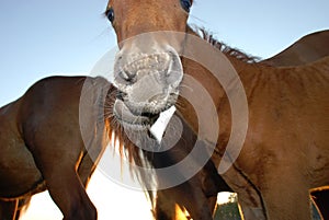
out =
<svg viewBox="0 0 329 220"><path fill-rule="evenodd" d="M219 165L223 155L227 155L225 146L232 126L229 119L230 103L225 91L234 93L230 88L237 85L237 81L241 82L248 101L248 132L237 160L229 162L232 166L222 176L238 193L241 207L247 209L254 202L232 176L238 173L249 181L263 201L264 211L254 211L256 216L260 215L259 219L310 219L309 189L329 184L328 178L324 177L329 174L326 147L328 102L324 94L328 85L328 58L300 67L277 68L252 62L236 51L227 53L226 58L239 80L232 79L230 88L224 89L209 70L194 60L180 57L181 51L188 49L203 55L213 51L204 53L204 48L188 44L196 35L186 24L191 7L190 0L109 2L106 15L121 48L114 77L120 90L114 104L117 120L132 129L147 129L161 112L177 105L183 118L197 132L202 127L194 108L180 95L193 86L186 81L186 76L191 76L211 94L220 118L216 151L212 154L213 162ZM162 10L166 13L161 13ZM144 40L133 39L157 31L183 34L178 34L174 39L168 39L166 33ZM214 56L215 53L208 57L218 58ZM216 61L223 63L219 58ZM202 100L198 104L207 106ZM124 115L129 117L124 118ZM211 129L207 131L212 132ZM206 135L202 134L205 140ZM293 151L296 151L295 154ZM228 155L232 154L235 152L228 152ZM276 176L285 184L279 183Z"/></svg>

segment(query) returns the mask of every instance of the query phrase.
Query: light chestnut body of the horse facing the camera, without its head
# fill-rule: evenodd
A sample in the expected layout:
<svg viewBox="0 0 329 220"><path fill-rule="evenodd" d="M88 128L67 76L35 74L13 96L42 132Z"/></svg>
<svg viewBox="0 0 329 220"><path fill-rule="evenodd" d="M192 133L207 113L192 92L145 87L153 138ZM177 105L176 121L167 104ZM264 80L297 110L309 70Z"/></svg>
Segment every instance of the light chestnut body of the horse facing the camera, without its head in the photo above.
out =
<svg viewBox="0 0 329 220"><path fill-rule="evenodd" d="M308 190L329 184L328 58L286 69L239 63L237 60L232 63L239 71L249 105L248 134L235 169L247 175L261 193L270 219L309 219ZM189 71L191 65L184 67L186 72L193 72ZM206 86L206 74L198 72L194 77L203 76L197 80ZM216 88L217 91L211 94L224 93L220 85ZM219 123L226 121L228 101L224 96L214 102L219 109ZM188 115L191 109L180 111ZM192 118L186 117L191 125L196 125ZM227 140L229 123L222 123L220 128L219 139ZM222 152L223 146L223 141L218 143ZM218 158L214 161L219 164ZM229 175L230 171L223 176L243 200L241 194L245 192ZM298 208L293 209L292 205Z"/></svg>

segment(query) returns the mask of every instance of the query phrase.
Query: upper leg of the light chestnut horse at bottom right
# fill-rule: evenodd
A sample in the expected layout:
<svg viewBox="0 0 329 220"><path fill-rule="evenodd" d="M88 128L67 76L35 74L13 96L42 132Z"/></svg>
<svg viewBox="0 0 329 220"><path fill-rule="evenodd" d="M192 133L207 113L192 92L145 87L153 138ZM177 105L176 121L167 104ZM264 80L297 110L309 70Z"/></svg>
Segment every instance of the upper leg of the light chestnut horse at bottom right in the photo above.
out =
<svg viewBox="0 0 329 220"><path fill-rule="evenodd" d="M276 169L262 180L261 194L270 220L311 220L305 177L295 169ZM270 176L271 175L271 176Z"/></svg>

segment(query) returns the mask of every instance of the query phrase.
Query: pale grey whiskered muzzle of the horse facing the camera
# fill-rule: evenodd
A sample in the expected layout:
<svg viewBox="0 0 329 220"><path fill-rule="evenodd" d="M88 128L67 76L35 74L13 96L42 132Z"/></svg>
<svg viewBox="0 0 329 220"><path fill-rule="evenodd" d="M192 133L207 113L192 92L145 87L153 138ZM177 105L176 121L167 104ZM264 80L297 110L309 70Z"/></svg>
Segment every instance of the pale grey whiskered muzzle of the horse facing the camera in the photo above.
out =
<svg viewBox="0 0 329 220"><path fill-rule="evenodd" d="M114 66L118 89L114 104L116 118L136 128L149 128L159 114L175 104L183 68L178 53L120 51Z"/></svg>

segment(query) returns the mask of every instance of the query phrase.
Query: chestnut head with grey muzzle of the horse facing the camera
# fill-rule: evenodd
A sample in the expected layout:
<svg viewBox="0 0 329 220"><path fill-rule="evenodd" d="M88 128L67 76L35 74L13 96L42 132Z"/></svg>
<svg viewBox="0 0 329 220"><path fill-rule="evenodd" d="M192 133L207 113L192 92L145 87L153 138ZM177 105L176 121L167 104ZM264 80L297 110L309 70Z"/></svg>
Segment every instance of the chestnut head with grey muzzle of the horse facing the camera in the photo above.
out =
<svg viewBox="0 0 329 220"><path fill-rule="evenodd" d="M179 95L183 48L192 0L111 0L106 16L117 36L114 65L118 93L114 115L133 129L145 129Z"/></svg>

